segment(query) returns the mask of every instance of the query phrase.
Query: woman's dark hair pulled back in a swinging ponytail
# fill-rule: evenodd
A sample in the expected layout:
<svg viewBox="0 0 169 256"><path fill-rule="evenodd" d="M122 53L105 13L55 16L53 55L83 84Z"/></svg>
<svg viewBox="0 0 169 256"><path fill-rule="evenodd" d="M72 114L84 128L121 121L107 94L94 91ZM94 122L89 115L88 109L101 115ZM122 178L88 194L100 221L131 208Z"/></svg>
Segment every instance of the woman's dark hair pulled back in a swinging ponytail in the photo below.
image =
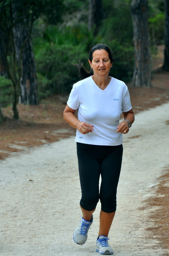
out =
<svg viewBox="0 0 169 256"><path fill-rule="evenodd" d="M112 57L112 55L113 55L113 54L112 54L112 51L111 51L111 49L109 48L109 46L107 46L106 44L96 44L95 46L93 46L93 47L90 49L90 52L89 52L89 60L90 60L90 62L92 62L92 60L93 60L93 52L95 52L96 50L105 50L106 52L108 52L110 62L114 64L114 60L113 60L113 57ZM80 75L82 78L87 78L87 77L93 75L93 70L91 69L91 71L88 71L88 70L83 66L83 63L74 64L74 65L78 67L78 69L79 69L79 75Z"/></svg>

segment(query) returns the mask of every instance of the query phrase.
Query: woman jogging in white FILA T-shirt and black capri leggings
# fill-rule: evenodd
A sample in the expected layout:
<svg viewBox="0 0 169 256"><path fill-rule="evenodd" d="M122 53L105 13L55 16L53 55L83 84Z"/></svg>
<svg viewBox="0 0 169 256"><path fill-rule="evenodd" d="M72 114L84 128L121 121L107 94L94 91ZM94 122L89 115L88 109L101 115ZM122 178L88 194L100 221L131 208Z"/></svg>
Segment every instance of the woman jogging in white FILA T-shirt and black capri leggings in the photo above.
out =
<svg viewBox="0 0 169 256"><path fill-rule="evenodd" d="M77 129L75 141L82 193L82 217L73 237L76 244L86 242L100 199L96 252L111 255L113 249L108 244L108 234L116 212L116 191L123 155L122 134L129 132L134 112L127 86L109 76L113 65L110 48L96 44L89 52L88 62L90 72L83 64L76 64L84 79L73 85L64 110L64 119ZM78 118L74 116L76 110ZM124 120L119 123L122 113Z"/></svg>

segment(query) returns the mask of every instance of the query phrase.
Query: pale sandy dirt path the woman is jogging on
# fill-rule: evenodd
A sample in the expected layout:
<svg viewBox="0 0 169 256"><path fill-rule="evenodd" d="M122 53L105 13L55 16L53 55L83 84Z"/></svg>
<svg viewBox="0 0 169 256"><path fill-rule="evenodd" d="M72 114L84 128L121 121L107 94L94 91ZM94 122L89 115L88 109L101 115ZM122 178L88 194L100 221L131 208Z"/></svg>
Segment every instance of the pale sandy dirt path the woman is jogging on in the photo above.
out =
<svg viewBox="0 0 169 256"><path fill-rule="evenodd" d="M168 109L169 103L138 113L123 136L117 212L109 233L115 256L167 253L157 240L147 238L146 228L158 226L148 220L156 207L140 207L169 165ZM98 255L100 204L86 244L76 245L72 238L81 217L80 196L74 137L1 161L1 255Z"/></svg>

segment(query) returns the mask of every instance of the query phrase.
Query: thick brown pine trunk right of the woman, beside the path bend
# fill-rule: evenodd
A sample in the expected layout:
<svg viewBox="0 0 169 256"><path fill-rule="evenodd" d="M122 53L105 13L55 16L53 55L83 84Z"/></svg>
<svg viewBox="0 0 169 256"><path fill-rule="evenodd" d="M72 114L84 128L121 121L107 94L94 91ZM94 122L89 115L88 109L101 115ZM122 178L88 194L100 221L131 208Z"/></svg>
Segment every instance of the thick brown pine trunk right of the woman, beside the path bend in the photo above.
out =
<svg viewBox="0 0 169 256"><path fill-rule="evenodd" d="M132 0L131 12L135 48L133 86L151 85L151 51L147 17L147 0Z"/></svg>

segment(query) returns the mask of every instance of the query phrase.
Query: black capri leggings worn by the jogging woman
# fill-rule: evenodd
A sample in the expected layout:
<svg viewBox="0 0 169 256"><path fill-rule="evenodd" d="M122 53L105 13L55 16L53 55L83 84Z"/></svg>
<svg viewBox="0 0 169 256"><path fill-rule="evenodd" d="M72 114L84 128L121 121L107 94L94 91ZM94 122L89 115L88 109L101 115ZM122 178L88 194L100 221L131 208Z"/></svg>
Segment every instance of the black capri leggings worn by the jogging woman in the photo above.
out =
<svg viewBox="0 0 169 256"><path fill-rule="evenodd" d="M99 201L103 212L116 211L116 192L122 165L123 146L101 146L77 142L81 183L80 205L93 211ZM100 193L99 178L102 177Z"/></svg>

